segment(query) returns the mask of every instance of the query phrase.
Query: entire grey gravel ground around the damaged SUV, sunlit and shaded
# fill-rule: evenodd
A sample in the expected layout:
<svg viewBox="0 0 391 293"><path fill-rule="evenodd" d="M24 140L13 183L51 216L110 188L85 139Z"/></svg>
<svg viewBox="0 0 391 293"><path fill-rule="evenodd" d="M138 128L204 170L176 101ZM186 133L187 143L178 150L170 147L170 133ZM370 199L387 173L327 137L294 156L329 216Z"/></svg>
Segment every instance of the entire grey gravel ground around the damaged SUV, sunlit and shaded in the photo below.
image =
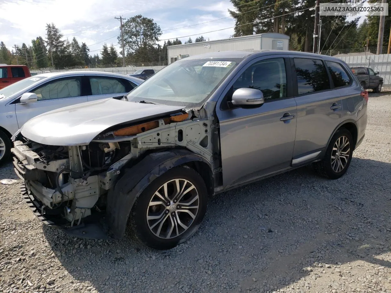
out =
<svg viewBox="0 0 391 293"><path fill-rule="evenodd" d="M0 186L0 292L391 292L391 93L369 93L366 138L338 180L301 168L210 200L161 252L67 236ZM11 163L0 179L17 179Z"/></svg>

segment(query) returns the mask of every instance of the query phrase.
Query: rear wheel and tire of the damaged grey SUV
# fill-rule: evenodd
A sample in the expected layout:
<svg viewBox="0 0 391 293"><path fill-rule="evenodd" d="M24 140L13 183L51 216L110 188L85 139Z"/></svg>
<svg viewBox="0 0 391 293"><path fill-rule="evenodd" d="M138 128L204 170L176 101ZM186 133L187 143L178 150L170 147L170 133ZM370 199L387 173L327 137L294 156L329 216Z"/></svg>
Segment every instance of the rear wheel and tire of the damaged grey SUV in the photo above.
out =
<svg viewBox="0 0 391 293"><path fill-rule="evenodd" d="M316 172L329 179L338 179L348 170L353 154L353 138L349 130L335 132L322 161L313 163Z"/></svg>

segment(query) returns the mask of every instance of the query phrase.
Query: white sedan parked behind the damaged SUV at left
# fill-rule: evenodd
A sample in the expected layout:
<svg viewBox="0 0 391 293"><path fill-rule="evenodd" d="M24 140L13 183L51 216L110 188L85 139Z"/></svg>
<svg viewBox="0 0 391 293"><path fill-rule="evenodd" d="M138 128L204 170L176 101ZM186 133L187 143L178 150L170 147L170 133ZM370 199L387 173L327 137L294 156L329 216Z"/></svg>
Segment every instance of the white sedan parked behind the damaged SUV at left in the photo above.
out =
<svg viewBox="0 0 391 293"><path fill-rule="evenodd" d="M0 164L11 150L11 136L31 118L69 105L122 98L144 80L101 71L43 73L0 90Z"/></svg>

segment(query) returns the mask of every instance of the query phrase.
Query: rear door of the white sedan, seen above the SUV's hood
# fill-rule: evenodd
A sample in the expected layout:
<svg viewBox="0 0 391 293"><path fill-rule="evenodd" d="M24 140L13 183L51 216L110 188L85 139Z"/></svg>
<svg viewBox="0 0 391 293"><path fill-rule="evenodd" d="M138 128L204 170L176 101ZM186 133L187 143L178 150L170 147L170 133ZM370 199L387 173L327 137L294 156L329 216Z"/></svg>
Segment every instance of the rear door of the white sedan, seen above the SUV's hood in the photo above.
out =
<svg viewBox="0 0 391 293"><path fill-rule="evenodd" d="M129 93L136 84L120 77L87 75L88 85L91 87L88 93L88 101L95 101L104 98L122 98Z"/></svg>

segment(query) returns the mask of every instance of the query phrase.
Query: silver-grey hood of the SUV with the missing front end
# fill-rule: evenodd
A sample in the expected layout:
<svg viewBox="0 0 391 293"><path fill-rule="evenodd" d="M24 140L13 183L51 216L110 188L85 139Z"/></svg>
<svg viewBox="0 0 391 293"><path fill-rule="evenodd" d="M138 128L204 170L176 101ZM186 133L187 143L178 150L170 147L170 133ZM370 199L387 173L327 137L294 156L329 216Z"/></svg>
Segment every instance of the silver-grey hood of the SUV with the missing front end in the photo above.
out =
<svg viewBox="0 0 391 293"><path fill-rule="evenodd" d="M87 145L111 126L178 113L183 107L108 98L63 107L27 121L22 135L44 145Z"/></svg>

